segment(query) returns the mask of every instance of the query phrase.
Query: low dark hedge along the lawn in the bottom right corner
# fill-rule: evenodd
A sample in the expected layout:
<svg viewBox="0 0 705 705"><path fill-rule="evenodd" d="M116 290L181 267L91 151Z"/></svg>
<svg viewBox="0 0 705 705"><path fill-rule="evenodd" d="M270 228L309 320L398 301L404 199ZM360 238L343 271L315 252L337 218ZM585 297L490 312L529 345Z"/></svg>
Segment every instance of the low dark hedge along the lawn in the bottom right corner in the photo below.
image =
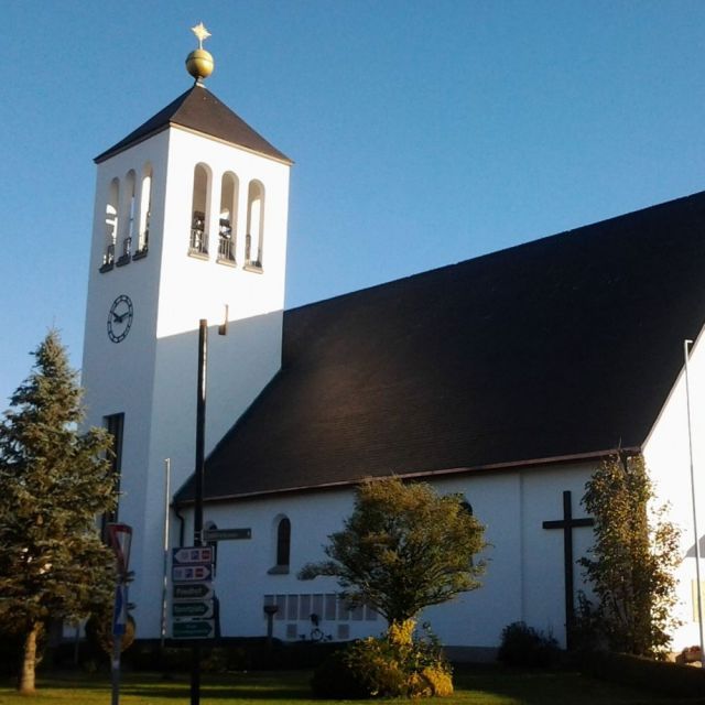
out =
<svg viewBox="0 0 705 705"><path fill-rule="evenodd" d="M705 670L626 653L581 654L578 669L594 677L705 703Z"/></svg>

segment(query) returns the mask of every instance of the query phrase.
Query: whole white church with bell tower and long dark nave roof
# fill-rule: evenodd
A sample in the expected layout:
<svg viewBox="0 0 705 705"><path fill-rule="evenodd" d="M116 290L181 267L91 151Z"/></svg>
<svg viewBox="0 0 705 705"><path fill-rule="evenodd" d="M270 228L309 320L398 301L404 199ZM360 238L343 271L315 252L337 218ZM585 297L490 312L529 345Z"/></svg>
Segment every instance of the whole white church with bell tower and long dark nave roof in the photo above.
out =
<svg viewBox="0 0 705 705"><path fill-rule="evenodd" d="M585 482L621 448L683 530L674 648L697 643L683 340L702 555L705 194L285 312L292 162L202 78L96 163L83 384L87 423L116 436L140 638L161 633L165 458L170 542L193 543L206 318L204 519L251 529L218 544L224 637L265 634L267 604L282 640L312 614L334 640L382 631L335 581L296 575L356 484L395 474L462 492L487 527L481 589L422 616L441 640L495 648L523 620L565 644L564 532L544 522L566 498L585 518ZM570 535L577 561L592 531Z"/></svg>

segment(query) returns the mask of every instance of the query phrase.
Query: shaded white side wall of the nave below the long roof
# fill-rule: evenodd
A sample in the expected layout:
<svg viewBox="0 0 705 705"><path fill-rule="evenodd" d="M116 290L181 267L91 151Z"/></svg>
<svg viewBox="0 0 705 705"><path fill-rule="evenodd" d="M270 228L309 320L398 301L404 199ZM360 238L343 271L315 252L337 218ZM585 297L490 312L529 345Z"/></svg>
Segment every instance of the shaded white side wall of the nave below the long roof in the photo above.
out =
<svg viewBox="0 0 705 705"><path fill-rule="evenodd" d="M593 466L557 465L520 471L466 475L435 479L442 494L459 492L475 516L487 525L490 544L482 554L488 561L482 586L456 599L426 609L420 622L429 620L446 646L495 648L503 627L511 621L527 623L565 642L563 532L543 529L543 521L561 519L563 491L573 494L573 514L582 517L579 498ZM300 581L305 563L325 557L327 536L343 528L352 511L354 490L317 491L252 499L230 505L206 505L206 521L219 528L248 527L249 541L224 541L218 545L215 586L220 599L224 636L264 636L265 596L330 595L340 587L334 578ZM291 566L286 574L269 573L275 562L273 519L291 520ZM189 535L188 512L186 535ZM573 532L576 560L592 542L589 529ZM575 567L576 590L582 586ZM288 604L288 603L286 603ZM285 609L285 608L284 608ZM274 637L291 640L306 637L311 625L306 615L289 619L278 615ZM336 618L322 619L324 634L336 638L338 625L348 626L349 638L380 633L384 622Z"/></svg>

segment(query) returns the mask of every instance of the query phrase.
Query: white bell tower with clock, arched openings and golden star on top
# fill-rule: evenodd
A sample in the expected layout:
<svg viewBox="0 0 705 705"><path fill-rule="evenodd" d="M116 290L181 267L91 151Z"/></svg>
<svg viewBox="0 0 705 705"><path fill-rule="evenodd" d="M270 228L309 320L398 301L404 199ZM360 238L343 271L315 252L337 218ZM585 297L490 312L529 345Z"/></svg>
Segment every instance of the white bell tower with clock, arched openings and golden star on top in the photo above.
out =
<svg viewBox="0 0 705 705"><path fill-rule="evenodd" d="M87 423L116 436L141 638L160 634L164 460L172 491L194 471L199 319L206 452L281 365L292 162L205 88L194 32L195 84L95 160L83 386Z"/></svg>

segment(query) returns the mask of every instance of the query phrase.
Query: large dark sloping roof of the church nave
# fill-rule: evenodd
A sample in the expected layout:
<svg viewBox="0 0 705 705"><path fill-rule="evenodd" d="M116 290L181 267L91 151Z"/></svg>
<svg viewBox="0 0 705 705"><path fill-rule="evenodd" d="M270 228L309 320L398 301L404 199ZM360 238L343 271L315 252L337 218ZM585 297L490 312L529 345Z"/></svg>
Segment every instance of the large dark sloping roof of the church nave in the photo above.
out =
<svg viewBox="0 0 705 705"><path fill-rule="evenodd" d="M206 499L639 447L704 322L703 193L289 311Z"/></svg>

